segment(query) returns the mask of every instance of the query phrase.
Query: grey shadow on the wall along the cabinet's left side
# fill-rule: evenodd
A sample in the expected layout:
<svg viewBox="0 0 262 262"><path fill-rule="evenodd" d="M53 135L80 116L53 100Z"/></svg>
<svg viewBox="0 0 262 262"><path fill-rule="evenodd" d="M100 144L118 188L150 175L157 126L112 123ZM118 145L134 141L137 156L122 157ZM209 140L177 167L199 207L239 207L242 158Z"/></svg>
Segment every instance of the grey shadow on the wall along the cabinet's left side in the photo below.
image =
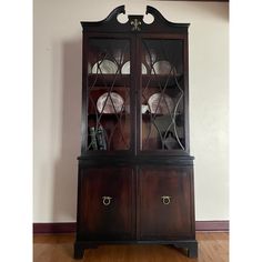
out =
<svg viewBox="0 0 262 262"><path fill-rule="evenodd" d="M81 72L82 72L82 42L81 39L64 42L62 47L62 90L53 95L52 105L56 110L58 101L61 101L60 115L52 115L61 121L60 133L56 141L60 145L59 158L56 161L53 181L53 222L74 222L77 220L77 183L78 162L80 154L80 119L81 119ZM54 58L56 60L56 58ZM58 64L58 61L53 61ZM59 67L53 70L53 79ZM56 82L56 81L54 81ZM58 87L53 84L53 89ZM54 127L56 127L54 125Z"/></svg>

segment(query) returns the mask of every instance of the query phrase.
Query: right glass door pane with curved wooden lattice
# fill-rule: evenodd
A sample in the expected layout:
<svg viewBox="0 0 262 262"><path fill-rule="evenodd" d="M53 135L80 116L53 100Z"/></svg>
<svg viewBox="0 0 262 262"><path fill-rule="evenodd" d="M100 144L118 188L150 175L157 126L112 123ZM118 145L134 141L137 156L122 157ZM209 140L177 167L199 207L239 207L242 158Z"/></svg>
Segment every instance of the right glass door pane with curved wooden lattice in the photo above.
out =
<svg viewBox="0 0 262 262"><path fill-rule="evenodd" d="M142 150L184 150L182 40L143 40Z"/></svg>

